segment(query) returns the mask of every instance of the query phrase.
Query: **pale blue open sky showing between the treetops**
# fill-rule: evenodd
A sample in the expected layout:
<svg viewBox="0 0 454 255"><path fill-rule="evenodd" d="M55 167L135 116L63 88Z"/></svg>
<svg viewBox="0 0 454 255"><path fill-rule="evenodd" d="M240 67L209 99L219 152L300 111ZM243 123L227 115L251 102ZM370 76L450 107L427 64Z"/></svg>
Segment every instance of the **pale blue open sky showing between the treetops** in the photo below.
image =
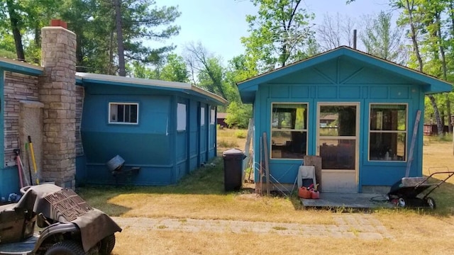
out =
<svg viewBox="0 0 454 255"><path fill-rule="evenodd" d="M304 8L315 13L314 23L323 21L323 15L347 15L352 18L363 14L389 10L388 0L304 0ZM182 54L188 42L201 42L209 52L223 57L224 62L244 52L240 38L248 35L247 14L256 13L249 0L157 0L159 6L178 6L182 13L177 21L179 35L167 43L177 45L175 52Z"/></svg>

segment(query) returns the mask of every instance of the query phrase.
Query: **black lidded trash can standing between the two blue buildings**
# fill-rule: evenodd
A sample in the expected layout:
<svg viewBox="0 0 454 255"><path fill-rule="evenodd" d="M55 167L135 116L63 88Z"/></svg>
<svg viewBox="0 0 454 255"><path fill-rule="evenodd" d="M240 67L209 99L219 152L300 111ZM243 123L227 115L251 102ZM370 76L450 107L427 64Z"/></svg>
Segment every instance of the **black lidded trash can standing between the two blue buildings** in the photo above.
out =
<svg viewBox="0 0 454 255"><path fill-rule="evenodd" d="M222 154L224 159L224 188L226 191L238 191L243 183L244 152L240 149L228 149Z"/></svg>

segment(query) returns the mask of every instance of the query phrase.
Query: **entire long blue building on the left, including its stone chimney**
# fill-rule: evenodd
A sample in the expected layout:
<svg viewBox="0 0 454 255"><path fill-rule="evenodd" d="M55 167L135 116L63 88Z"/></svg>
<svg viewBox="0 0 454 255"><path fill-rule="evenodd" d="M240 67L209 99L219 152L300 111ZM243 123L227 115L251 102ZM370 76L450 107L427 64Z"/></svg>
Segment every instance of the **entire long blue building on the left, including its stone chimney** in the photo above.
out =
<svg viewBox="0 0 454 255"><path fill-rule="evenodd" d="M216 157L224 98L182 82L77 73L76 35L60 26L41 35L42 66L0 59L0 203L44 182L167 185ZM120 157L122 171L111 171Z"/></svg>

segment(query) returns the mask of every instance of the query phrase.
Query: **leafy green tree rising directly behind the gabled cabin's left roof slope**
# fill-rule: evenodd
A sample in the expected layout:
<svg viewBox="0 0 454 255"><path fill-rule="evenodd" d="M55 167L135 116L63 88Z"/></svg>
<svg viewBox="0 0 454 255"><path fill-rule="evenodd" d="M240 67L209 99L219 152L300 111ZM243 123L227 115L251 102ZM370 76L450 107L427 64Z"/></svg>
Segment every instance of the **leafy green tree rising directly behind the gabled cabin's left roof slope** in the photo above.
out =
<svg viewBox="0 0 454 255"><path fill-rule="evenodd" d="M257 15L246 16L250 35L241 38L248 62L259 72L299 60L314 36L314 14L301 8L301 0L251 0Z"/></svg>

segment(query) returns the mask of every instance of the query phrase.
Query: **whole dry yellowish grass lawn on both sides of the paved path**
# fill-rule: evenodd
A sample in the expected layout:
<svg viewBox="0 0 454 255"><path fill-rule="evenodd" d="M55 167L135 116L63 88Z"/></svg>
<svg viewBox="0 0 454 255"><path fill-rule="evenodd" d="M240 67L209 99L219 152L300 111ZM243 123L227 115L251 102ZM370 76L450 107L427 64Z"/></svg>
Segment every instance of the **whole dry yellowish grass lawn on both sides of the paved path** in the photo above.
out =
<svg viewBox="0 0 454 255"><path fill-rule="evenodd" d="M234 131L220 139L235 142ZM230 138L229 138L230 137ZM237 141L238 142L238 141ZM244 140L238 142L243 149ZM228 146L230 147L230 146ZM227 147L227 148L228 148ZM221 151L224 148L220 148ZM423 172L452 166L451 142L424 144ZM90 204L120 217L171 217L332 225L342 212L301 210L298 198L257 198L248 191L223 192L222 162L169 187L82 188ZM314 238L278 234L179 232L126 228L114 254L454 254L454 177L433 192L437 210L379 209L370 212L392 239Z"/></svg>

